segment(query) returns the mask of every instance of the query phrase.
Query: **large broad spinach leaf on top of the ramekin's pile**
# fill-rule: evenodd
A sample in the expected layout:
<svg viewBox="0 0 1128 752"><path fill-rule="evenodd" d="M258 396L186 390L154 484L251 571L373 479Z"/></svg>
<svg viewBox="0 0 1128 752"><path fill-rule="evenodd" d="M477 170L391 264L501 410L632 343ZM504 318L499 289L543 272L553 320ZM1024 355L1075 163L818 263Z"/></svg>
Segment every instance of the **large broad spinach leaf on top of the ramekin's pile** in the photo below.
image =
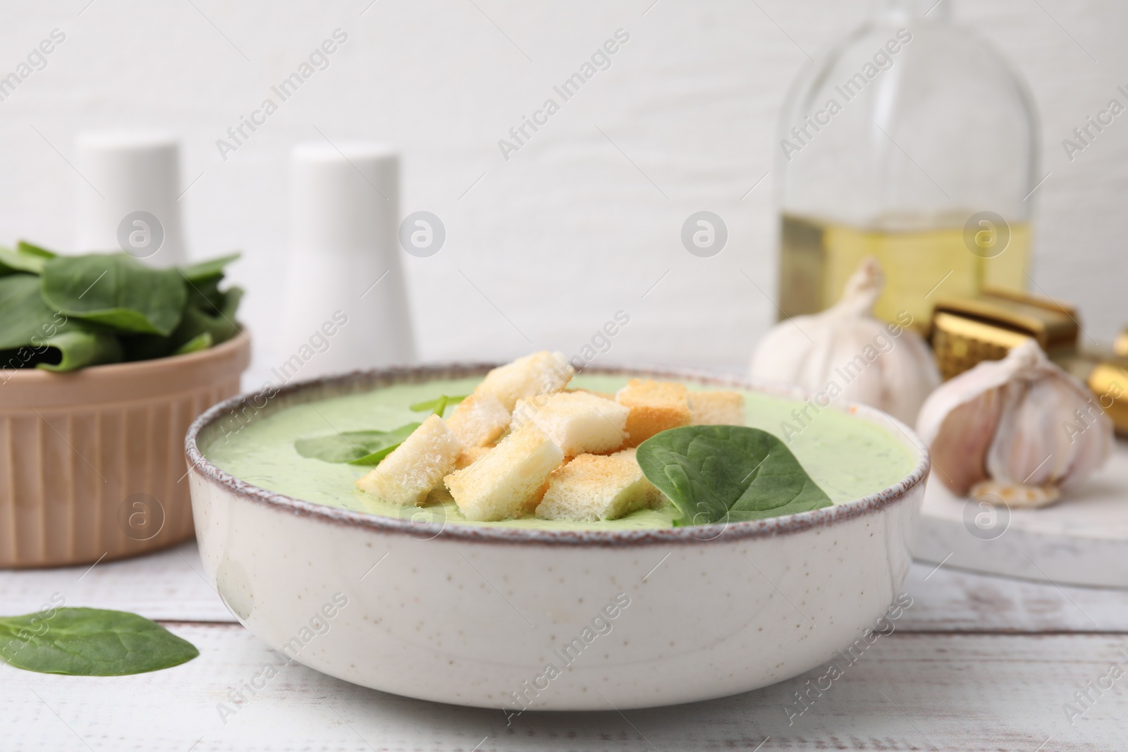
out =
<svg viewBox="0 0 1128 752"><path fill-rule="evenodd" d="M44 302L67 316L126 331L168 335L187 291L177 269L155 269L125 254L56 256L43 267Z"/></svg>

